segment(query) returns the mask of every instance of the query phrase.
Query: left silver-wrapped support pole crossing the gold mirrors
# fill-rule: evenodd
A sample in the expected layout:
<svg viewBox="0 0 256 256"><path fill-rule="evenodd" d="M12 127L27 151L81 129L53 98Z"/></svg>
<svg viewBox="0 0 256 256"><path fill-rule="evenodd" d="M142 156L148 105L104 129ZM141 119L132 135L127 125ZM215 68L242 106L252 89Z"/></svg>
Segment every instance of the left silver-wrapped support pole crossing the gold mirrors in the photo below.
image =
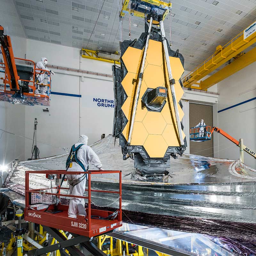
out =
<svg viewBox="0 0 256 256"><path fill-rule="evenodd" d="M146 62L146 56L147 56L147 51L148 51L148 43L149 43L152 23L153 23L153 18L151 17L150 22L149 22L149 27L148 27L148 36L147 36L147 40L146 40L146 44L145 44L145 48L144 48L143 59L142 59L142 63L141 63L140 73L139 73L139 83L138 83L137 90L136 90L136 98L135 98L133 110L132 110L132 120L130 123L130 131L129 131L128 141L127 141L128 145L131 144L131 140L132 140L133 125L135 122L135 116L136 116L136 111L137 111L138 102L139 102L140 87L141 87L142 78L143 78L143 72L144 72L144 67L145 67L145 62Z"/></svg>

